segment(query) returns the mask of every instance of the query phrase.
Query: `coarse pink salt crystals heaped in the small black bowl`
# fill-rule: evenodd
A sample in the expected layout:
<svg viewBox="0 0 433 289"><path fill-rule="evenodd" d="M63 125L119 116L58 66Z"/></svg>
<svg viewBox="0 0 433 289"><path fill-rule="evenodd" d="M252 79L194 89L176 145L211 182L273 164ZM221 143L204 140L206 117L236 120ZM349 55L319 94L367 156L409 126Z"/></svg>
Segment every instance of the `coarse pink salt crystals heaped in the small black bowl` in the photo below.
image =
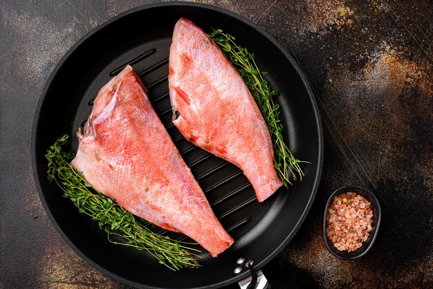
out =
<svg viewBox="0 0 433 289"><path fill-rule="evenodd" d="M371 203L357 193L337 195L326 216L326 236L339 251L353 252L362 247L371 231ZM337 215L335 215L337 213Z"/></svg>

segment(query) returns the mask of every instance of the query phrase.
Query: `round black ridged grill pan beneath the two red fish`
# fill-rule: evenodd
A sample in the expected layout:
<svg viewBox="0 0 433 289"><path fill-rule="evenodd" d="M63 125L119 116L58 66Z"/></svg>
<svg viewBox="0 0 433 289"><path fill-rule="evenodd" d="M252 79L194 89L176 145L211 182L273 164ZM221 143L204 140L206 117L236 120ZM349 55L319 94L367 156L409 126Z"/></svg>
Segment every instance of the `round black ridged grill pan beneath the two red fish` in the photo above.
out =
<svg viewBox="0 0 433 289"><path fill-rule="evenodd" d="M174 24L180 17L209 32L219 27L237 36L239 44L256 55L279 89L285 137L305 177L290 189L280 189L259 203L241 171L208 155L181 137L171 123L167 95L167 58ZM46 179L44 153L60 135L73 138L91 112L92 99L111 76L127 63L139 73L149 98L178 150L192 168L214 213L234 238L226 252L213 259L203 252L202 267L172 272L145 252L113 245L88 216L77 212L60 189ZM248 116L245 116L248 121ZM232 12L197 3L160 3L129 10L95 28L75 44L57 64L37 106L33 126L33 164L39 195L53 224L77 254L93 267L138 288L218 288L250 274L234 273L244 257L261 268L272 259L304 221L311 207L322 168L322 128L308 82L293 58L264 30ZM170 233L168 233L170 234ZM174 238L182 238L172 234Z"/></svg>

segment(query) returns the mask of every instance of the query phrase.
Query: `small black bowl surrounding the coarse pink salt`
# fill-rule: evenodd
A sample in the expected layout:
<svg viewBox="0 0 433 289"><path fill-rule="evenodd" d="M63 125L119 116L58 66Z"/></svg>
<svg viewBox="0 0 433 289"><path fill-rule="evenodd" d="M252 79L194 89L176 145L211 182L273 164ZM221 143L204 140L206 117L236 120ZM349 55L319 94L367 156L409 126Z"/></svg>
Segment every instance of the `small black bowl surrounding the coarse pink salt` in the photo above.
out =
<svg viewBox="0 0 433 289"><path fill-rule="evenodd" d="M369 232L369 237L367 240L362 243L362 247L359 249L356 249L353 252L347 252L347 251L339 251L334 247L332 244L332 241L329 240L329 238L326 236L326 215L328 214L329 205L331 204L332 199L335 197L335 195L340 195L341 193L357 193L358 195L362 195L367 201L371 203L371 211L373 211L373 222L371 223L371 231ZM323 216L323 240L326 245L326 248L333 254L335 257L343 259L343 260L353 260L358 259L367 252L369 252L369 249L373 246L374 240L376 240L376 236L378 235L379 225L380 225L380 218L381 218L381 211L380 211L380 204L378 202L378 199L376 199L376 196L371 193L371 191L361 188L359 186L343 186L342 188L334 191L332 195L329 197L328 202L326 203L324 216Z"/></svg>

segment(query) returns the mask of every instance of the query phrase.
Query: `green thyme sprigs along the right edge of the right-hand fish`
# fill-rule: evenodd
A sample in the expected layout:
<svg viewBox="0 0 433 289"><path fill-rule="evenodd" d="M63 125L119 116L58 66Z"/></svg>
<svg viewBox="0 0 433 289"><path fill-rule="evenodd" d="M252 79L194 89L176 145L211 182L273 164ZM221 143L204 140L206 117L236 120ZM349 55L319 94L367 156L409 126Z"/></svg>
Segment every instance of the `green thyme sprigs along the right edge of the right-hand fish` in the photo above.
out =
<svg viewBox="0 0 433 289"><path fill-rule="evenodd" d="M293 157L286 143L284 143L284 128L279 120L279 105L273 100L279 93L271 89L269 83L265 80L264 75L266 72L257 67L254 54L236 44L234 42L236 38L232 35L223 33L221 29L212 29L209 36L227 56L228 60L232 62L234 68L237 69L248 89L250 89L261 114L264 116L273 140L274 166L284 186L288 187L288 184L292 184L291 179L297 180L298 177L302 179L304 173L300 168L300 163L306 161L300 161Z"/></svg>

